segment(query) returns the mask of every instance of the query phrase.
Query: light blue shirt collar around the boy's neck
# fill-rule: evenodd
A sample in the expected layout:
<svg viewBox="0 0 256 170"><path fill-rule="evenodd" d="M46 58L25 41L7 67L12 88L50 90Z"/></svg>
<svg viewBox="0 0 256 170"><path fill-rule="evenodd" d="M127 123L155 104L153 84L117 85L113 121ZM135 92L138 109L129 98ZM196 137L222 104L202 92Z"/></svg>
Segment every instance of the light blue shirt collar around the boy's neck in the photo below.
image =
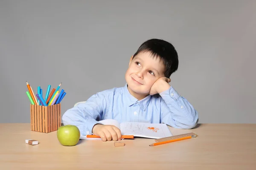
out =
<svg viewBox="0 0 256 170"><path fill-rule="evenodd" d="M148 104L151 100L151 95L146 96L144 99L142 100L138 100L136 99L134 96L132 96L130 94L130 92L128 91L127 88L127 83L125 84L124 90L123 90L123 94L125 96L125 99L127 101L128 106L132 106L135 103L138 103L140 105L140 107L143 109L143 111L146 110L146 108L148 107Z"/></svg>

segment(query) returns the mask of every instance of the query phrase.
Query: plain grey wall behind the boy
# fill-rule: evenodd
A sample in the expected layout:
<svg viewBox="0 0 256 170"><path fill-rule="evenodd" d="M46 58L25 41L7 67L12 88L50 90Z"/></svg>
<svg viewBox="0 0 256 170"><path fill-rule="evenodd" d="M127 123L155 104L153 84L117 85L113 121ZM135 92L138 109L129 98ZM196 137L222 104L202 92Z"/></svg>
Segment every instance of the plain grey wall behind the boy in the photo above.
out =
<svg viewBox="0 0 256 170"><path fill-rule="evenodd" d="M256 123L256 0L0 0L0 123L30 122L34 91L62 82L62 114L125 85L142 42L177 49L173 87L199 123Z"/></svg>

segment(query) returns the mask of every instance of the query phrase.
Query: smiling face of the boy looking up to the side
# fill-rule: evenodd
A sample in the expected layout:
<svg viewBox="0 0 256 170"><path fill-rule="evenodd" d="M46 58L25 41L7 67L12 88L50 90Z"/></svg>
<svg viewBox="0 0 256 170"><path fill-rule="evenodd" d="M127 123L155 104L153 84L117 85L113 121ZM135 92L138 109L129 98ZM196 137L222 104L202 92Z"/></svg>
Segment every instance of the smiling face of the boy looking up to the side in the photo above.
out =
<svg viewBox="0 0 256 170"><path fill-rule="evenodd" d="M152 56L151 52L140 52L130 59L125 73L128 90L133 96L147 96L154 82L164 77L165 67L159 57Z"/></svg>

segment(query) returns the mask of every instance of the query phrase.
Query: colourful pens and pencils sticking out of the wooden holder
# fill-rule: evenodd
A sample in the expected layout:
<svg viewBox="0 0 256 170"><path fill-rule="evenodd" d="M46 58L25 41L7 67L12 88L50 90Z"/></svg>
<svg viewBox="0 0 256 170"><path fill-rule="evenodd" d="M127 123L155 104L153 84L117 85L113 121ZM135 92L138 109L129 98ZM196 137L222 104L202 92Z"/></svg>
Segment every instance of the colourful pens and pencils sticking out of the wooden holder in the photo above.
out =
<svg viewBox="0 0 256 170"><path fill-rule="evenodd" d="M56 89L53 88L51 93L49 94L51 85L48 85L46 96L44 99L43 89L41 89L40 86L38 86L38 94L35 95L29 83L26 82L26 84L27 84L27 88L29 89L29 91L26 91L26 94L32 105L49 106L49 105L59 104L61 100L64 98L64 96L66 95L66 92L64 92L63 89L61 90L61 92L58 91L59 88L61 87L61 84L59 84ZM35 96L37 97L37 99Z"/></svg>

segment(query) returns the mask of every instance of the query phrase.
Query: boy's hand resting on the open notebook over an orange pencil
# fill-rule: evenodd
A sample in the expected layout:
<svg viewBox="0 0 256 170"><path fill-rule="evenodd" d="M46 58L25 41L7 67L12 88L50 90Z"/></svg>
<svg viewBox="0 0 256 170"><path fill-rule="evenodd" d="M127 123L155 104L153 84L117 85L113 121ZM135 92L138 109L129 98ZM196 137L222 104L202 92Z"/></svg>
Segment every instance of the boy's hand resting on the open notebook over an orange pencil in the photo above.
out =
<svg viewBox="0 0 256 170"><path fill-rule="evenodd" d="M93 126L93 134L100 136L102 141L117 141L122 139L121 131L118 127L113 125L97 124Z"/></svg>

